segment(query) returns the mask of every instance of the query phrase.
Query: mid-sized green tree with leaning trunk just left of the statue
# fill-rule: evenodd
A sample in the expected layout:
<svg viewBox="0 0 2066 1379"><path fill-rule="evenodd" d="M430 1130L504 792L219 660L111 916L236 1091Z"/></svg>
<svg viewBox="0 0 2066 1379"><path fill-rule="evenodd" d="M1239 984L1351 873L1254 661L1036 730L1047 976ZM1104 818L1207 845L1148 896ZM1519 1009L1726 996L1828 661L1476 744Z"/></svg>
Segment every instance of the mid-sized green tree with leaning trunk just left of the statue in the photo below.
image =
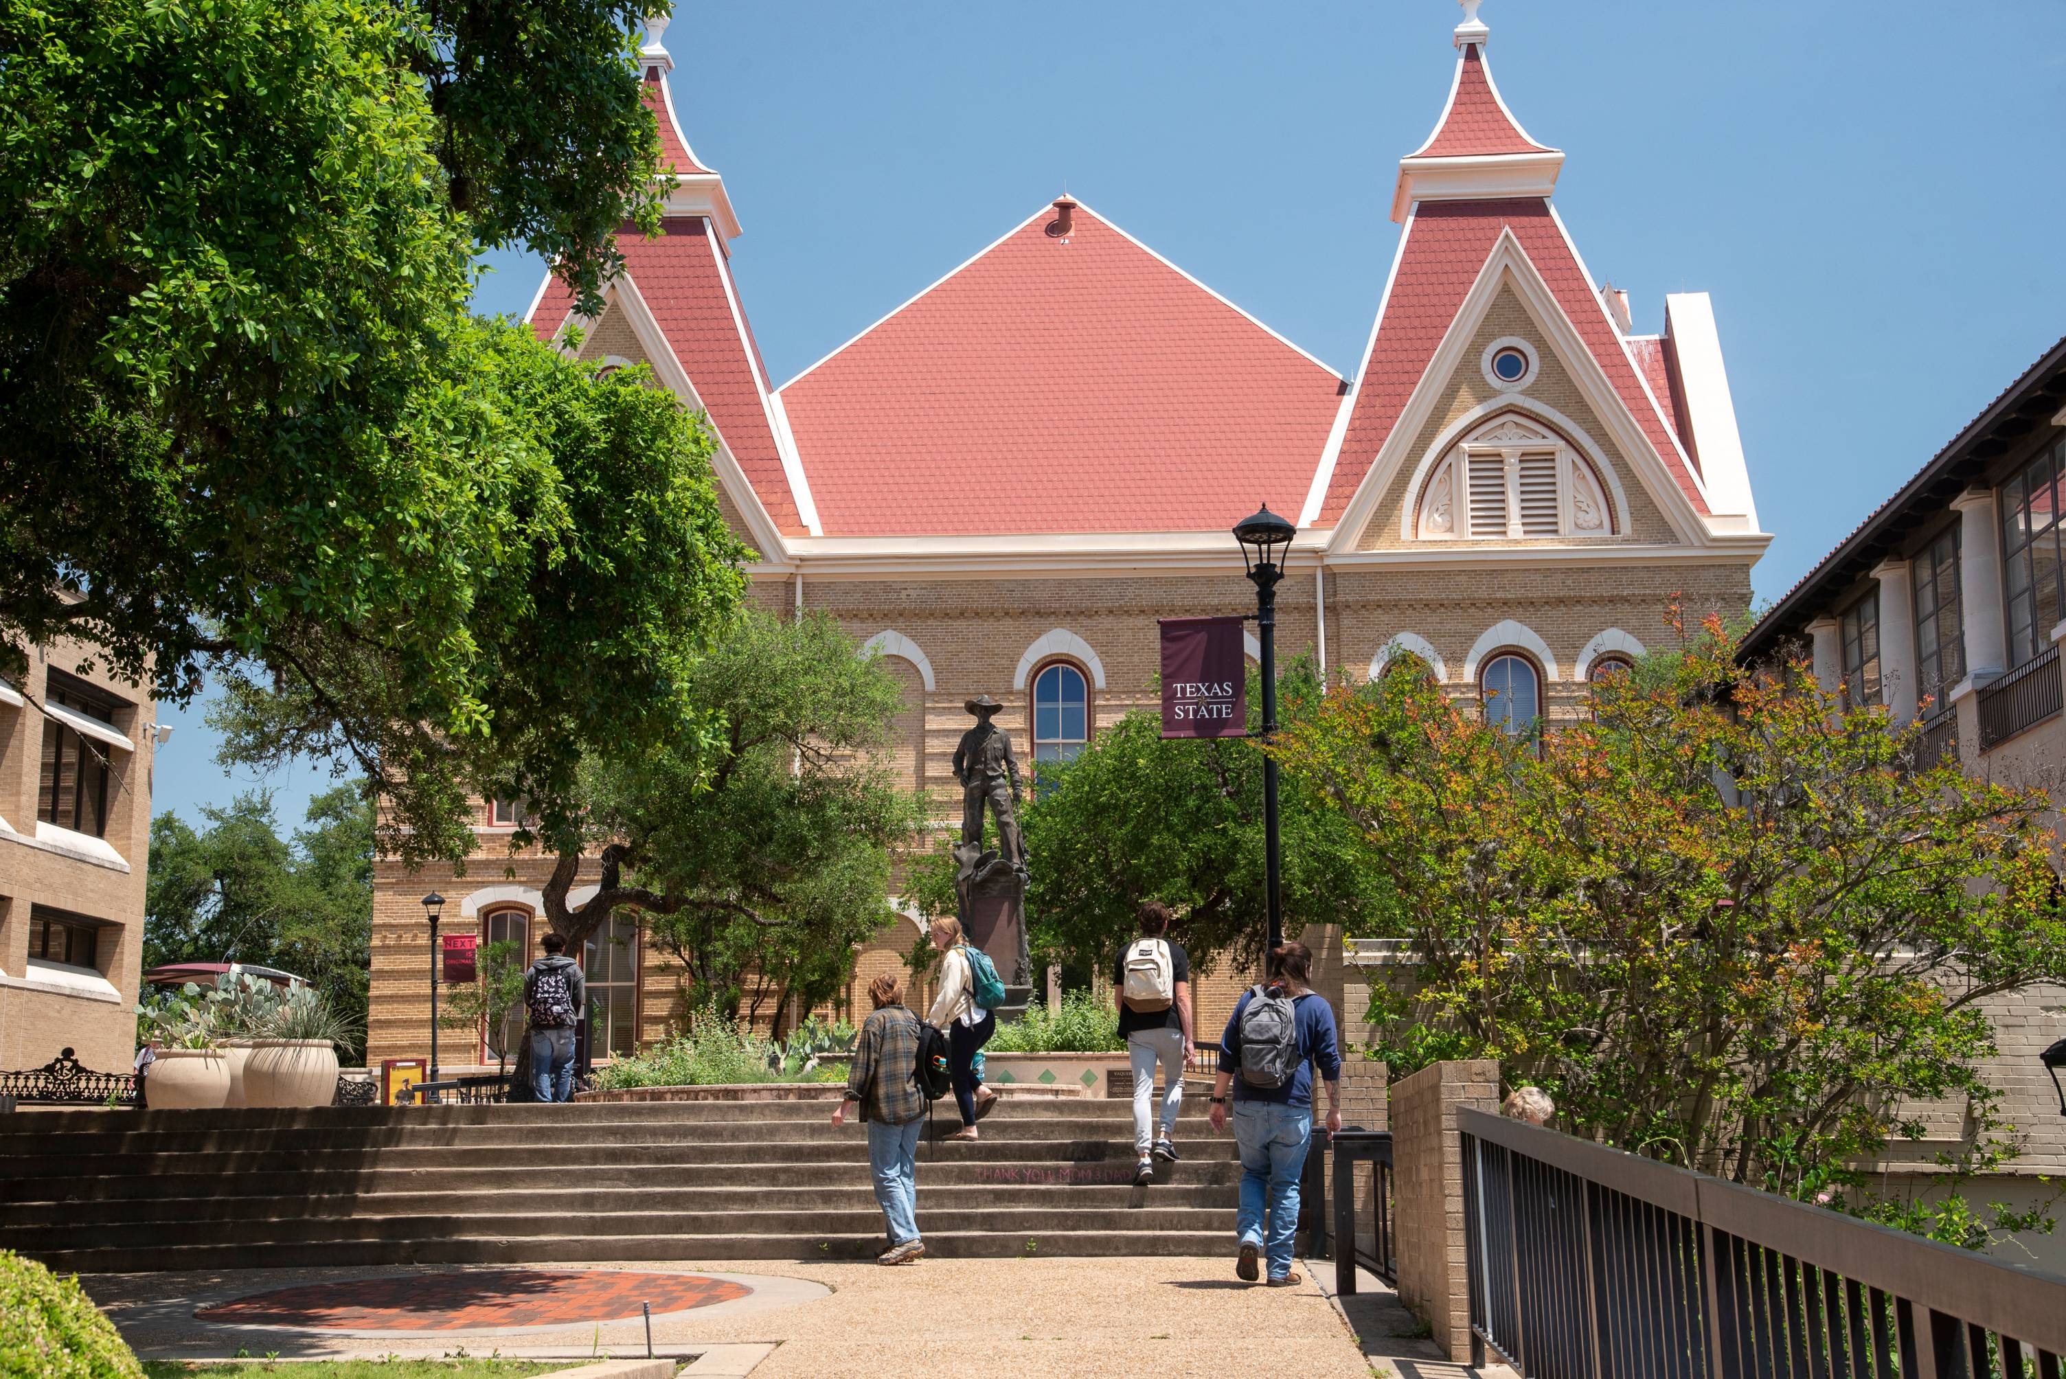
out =
<svg viewBox="0 0 2066 1379"><path fill-rule="evenodd" d="M591 762L585 842L599 892L568 906L572 848L543 892L570 950L609 910L636 906L686 966L696 1007L810 1007L847 981L853 948L895 921L890 855L926 817L876 756L903 690L857 652L826 615L742 609L686 677L711 733Z"/></svg>

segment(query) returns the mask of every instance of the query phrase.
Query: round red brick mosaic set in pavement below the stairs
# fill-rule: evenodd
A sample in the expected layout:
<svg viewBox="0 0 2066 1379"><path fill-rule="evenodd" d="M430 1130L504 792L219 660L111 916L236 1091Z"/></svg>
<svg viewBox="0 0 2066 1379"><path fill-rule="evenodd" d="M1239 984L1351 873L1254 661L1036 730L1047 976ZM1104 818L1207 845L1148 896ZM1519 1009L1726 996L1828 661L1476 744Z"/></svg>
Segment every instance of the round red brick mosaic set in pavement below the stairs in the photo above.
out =
<svg viewBox="0 0 2066 1379"><path fill-rule="evenodd" d="M702 1274L479 1270L304 1284L202 1307L202 1321L320 1332L471 1332L624 1321L744 1298L752 1288Z"/></svg>

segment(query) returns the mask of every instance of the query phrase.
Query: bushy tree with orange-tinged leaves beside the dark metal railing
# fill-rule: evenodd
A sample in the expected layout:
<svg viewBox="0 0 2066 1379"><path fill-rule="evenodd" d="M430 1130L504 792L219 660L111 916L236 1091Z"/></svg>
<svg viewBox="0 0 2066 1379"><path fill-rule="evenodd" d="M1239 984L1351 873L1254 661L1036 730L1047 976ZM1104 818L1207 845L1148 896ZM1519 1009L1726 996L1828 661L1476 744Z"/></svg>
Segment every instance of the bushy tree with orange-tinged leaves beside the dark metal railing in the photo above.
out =
<svg viewBox="0 0 2066 1379"><path fill-rule="evenodd" d="M1981 1001L2066 976L2045 797L1733 650L1711 621L1539 739L1413 673L1285 735L1417 960L1380 1053L1500 1059L1576 1133L1797 1195L1866 1201L1921 1102L1977 1125L1948 1168L2006 1162Z"/></svg>

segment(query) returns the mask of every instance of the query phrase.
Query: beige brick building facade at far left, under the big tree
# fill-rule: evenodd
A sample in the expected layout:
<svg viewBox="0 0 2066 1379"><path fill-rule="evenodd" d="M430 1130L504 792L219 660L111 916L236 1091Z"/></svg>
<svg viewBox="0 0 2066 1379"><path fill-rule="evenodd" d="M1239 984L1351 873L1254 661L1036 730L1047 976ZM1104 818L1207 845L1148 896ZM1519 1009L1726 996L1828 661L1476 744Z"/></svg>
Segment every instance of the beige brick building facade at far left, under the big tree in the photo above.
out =
<svg viewBox="0 0 2066 1379"><path fill-rule="evenodd" d="M56 749L60 733L81 741L37 710L50 704L52 673L70 673L99 692L107 727L130 743L124 749L87 739L87 751L107 762L105 824L97 832L43 817L52 813L45 751ZM128 1071L136 1053L157 706L149 690L87 669L87 648L70 642L31 650L27 683L0 698L0 1069L39 1067L72 1049L95 1071ZM62 912L91 925L93 962L31 956L31 921L39 912L45 921Z"/></svg>

